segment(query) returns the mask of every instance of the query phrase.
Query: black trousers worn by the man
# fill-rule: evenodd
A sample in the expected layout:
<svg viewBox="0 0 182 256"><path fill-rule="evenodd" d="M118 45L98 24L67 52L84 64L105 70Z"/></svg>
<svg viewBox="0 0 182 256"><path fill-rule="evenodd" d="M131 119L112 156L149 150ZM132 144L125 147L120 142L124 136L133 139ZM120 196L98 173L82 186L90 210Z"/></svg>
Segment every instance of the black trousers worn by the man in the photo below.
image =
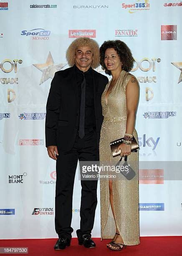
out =
<svg viewBox="0 0 182 256"><path fill-rule="evenodd" d="M98 161L96 131L89 129L70 151L61 151L56 161L55 228L58 237L71 238L72 200L76 166L79 161ZM77 236L91 234L97 205L97 180L81 180L80 229Z"/></svg>

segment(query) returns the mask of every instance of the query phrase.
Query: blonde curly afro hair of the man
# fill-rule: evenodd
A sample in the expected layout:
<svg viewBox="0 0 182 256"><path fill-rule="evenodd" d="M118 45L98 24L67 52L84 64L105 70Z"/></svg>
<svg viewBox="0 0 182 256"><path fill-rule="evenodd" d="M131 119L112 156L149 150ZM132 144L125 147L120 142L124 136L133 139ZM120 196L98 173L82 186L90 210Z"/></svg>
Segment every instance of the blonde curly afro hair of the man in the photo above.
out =
<svg viewBox="0 0 182 256"><path fill-rule="evenodd" d="M66 51L66 59L70 67L73 67L73 65L75 64L75 53L78 47L90 47L91 50L93 51L93 56L94 56L94 60L91 64L91 67L93 69L96 69L96 67L99 67L100 65L99 64L99 59L100 59L99 44L97 44L95 40L88 37L77 38L68 47Z"/></svg>

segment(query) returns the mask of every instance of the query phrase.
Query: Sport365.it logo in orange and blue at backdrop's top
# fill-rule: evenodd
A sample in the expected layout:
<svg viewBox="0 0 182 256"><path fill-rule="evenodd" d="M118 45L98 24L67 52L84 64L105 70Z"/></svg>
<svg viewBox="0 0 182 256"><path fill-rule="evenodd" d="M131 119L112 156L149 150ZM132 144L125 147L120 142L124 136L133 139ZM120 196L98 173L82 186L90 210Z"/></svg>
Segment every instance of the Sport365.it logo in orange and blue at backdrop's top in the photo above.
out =
<svg viewBox="0 0 182 256"><path fill-rule="evenodd" d="M136 13L137 11L150 10L149 0L136 0L136 3L122 3L121 7L128 10L129 13Z"/></svg>

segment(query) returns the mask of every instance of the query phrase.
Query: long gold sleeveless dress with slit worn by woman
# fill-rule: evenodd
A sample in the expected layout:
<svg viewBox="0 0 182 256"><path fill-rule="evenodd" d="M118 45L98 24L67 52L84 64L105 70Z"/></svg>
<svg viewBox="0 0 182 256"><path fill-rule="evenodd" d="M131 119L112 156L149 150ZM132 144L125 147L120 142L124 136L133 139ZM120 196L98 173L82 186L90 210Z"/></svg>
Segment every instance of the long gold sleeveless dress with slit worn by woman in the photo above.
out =
<svg viewBox="0 0 182 256"><path fill-rule="evenodd" d="M115 165L120 156L113 157L110 142L124 137L126 132L126 85L132 74L122 70L116 84L107 97L106 92L110 82L101 97L102 113L104 121L101 128L100 138L100 161L109 161ZM136 130L133 133L136 141L138 136ZM112 179L114 214L116 225L123 238L125 245L137 245L139 241L139 153L131 153L128 156L128 163L131 164L136 176L127 180L122 174ZM109 202L108 179L100 179L101 195L101 239L112 239L116 232L116 225Z"/></svg>

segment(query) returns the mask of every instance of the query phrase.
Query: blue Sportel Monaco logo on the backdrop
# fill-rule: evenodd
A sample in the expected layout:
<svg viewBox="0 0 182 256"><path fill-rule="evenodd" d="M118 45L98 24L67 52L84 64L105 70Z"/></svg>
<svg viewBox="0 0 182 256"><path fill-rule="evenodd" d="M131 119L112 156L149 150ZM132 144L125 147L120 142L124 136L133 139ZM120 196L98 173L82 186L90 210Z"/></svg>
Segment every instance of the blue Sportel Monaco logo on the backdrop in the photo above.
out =
<svg viewBox="0 0 182 256"><path fill-rule="evenodd" d="M21 31L21 36L31 36L32 40L49 40L51 31L44 28L35 28L32 30Z"/></svg>

